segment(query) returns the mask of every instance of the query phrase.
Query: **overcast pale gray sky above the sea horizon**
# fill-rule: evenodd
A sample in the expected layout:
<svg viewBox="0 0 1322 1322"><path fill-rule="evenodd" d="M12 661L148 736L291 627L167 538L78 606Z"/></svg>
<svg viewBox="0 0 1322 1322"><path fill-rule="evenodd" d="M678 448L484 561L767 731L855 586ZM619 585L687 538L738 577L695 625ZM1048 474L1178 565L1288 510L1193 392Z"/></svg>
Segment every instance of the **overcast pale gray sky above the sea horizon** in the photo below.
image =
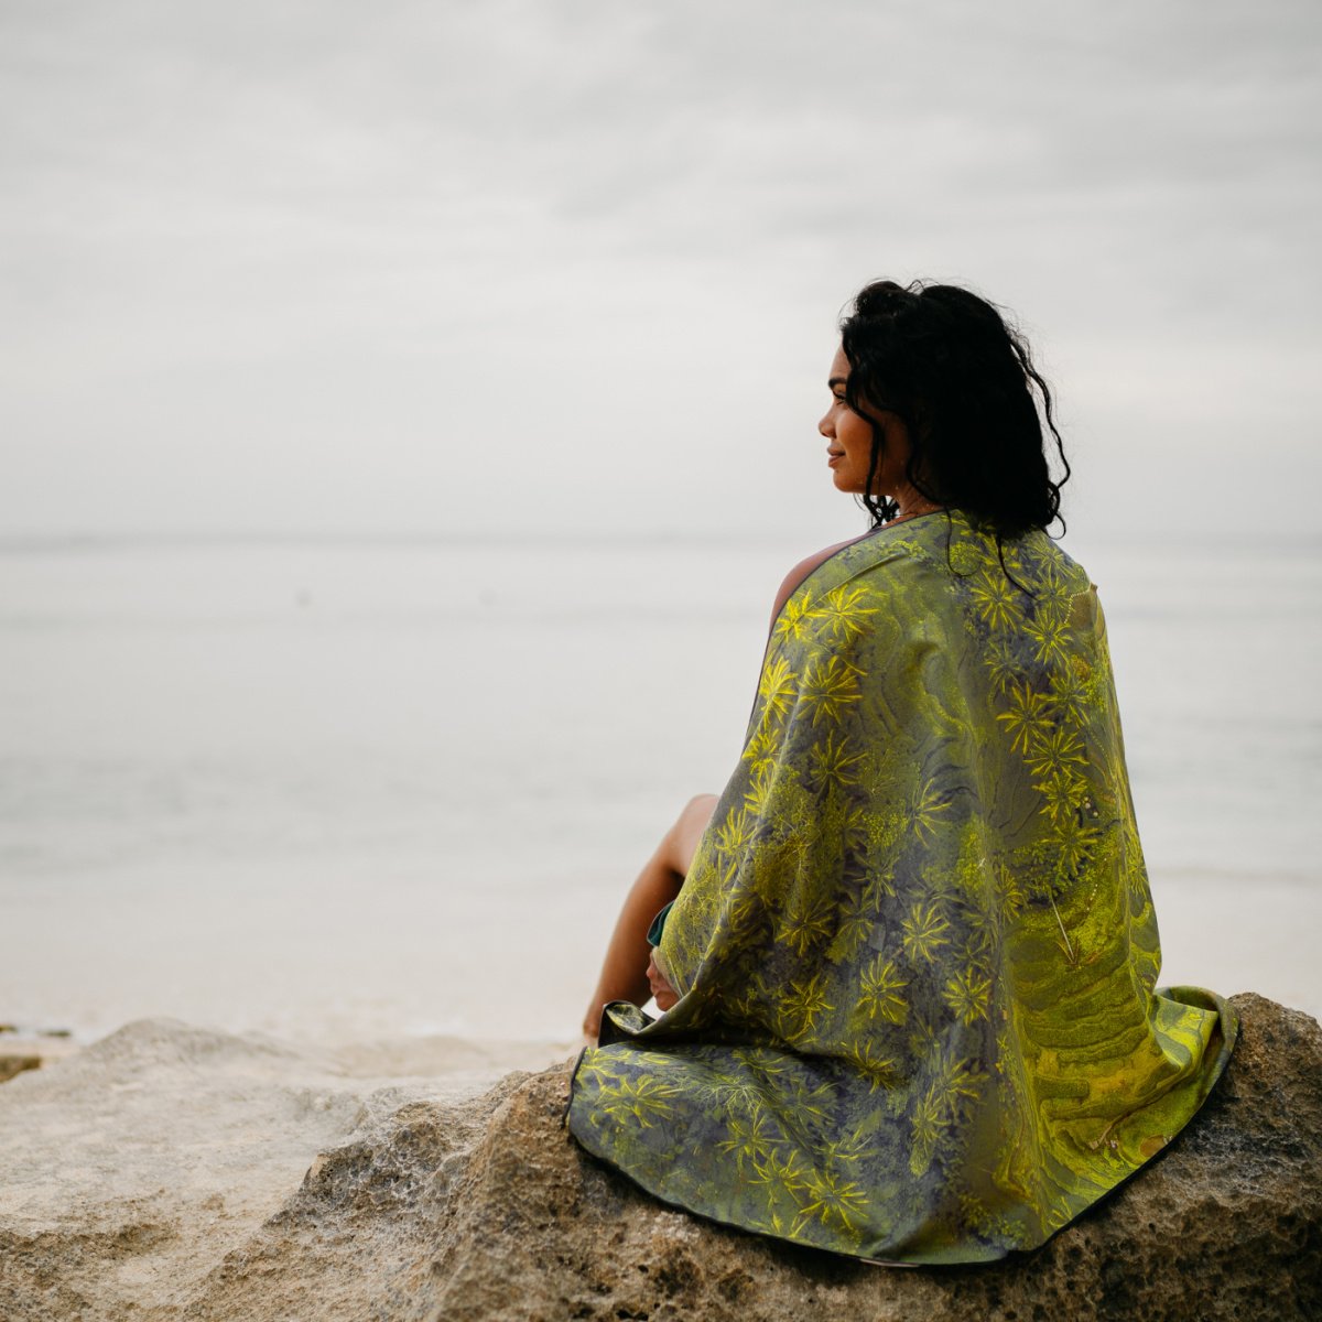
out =
<svg viewBox="0 0 1322 1322"><path fill-rule="evenodd" d="M1071 530L1318 531L1313 3L0 0L0 531L866 522L867 279L1054 382Z"/></svg>

